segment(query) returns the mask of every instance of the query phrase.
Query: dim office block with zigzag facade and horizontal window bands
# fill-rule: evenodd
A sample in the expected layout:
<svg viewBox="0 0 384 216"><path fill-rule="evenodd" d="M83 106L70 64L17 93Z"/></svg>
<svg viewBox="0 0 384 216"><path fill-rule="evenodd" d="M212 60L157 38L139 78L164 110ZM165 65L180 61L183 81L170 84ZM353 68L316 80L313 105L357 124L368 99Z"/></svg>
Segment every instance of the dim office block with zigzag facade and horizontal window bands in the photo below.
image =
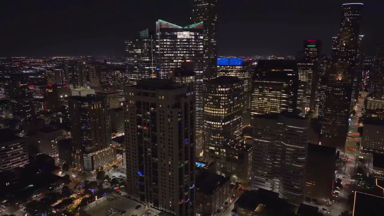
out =
<svg viewBox="0 0 384 216"><path fill-rule="evenodd" d="M283 111L253 119L252 189L301 203L304 198L309 120Z"/></svg>

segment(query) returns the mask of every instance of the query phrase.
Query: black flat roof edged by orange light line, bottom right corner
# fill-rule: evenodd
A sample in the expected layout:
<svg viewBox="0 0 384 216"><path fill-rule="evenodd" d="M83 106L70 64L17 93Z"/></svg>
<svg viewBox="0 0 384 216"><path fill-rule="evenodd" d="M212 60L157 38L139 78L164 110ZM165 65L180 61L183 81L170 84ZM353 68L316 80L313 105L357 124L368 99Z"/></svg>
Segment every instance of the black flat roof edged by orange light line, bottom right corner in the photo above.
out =
<svg viewBox="0 0 384 216"><path fill-rule="evenodd" d="M353 216L381 215L383 205L384 198L356 191Z"/></svg>

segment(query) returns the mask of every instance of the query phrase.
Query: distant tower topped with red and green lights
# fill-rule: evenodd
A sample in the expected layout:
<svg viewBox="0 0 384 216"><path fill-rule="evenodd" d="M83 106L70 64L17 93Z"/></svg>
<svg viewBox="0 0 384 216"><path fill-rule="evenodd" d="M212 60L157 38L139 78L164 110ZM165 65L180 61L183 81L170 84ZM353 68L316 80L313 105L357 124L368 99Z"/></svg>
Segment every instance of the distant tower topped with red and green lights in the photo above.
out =
<svg viewBox="0 0 384 216"><path fill-rule="evenodd" d="M303 98L305 113L313 109L315 101L315 86L318 80L319 58L321 52L321 40L304 40L303 58L297 63L299 81L304 84ZM300 86L299 86L300 87Z"/></svg>

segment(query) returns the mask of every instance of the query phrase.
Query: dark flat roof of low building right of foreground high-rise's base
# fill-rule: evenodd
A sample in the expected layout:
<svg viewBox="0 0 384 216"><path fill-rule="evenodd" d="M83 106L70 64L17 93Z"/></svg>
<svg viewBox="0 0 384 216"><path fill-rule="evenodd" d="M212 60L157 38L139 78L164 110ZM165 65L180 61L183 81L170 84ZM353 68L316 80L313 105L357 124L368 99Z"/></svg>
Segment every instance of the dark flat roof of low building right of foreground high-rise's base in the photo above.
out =
<svg viewBox="0 0 384 216"><path fill-rule="evenodd" d="M218 174L204 172L196 176L197 191L204 194L213 194L217 187L229 181L229 177L224 177Z"/></svg>

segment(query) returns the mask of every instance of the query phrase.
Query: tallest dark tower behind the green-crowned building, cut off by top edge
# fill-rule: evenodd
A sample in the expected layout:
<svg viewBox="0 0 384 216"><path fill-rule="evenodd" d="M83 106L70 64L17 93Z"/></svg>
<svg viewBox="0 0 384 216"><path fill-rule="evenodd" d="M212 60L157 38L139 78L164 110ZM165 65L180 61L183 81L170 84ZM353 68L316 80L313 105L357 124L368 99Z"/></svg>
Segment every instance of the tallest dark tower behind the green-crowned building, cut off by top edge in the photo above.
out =
<svg viewBox="0 0 384 216"><path fill-rule="evenodd" d="M204 79L216 77L216 36L217 36L217 0L191 0L192 23L204 22Z"/></svg>

